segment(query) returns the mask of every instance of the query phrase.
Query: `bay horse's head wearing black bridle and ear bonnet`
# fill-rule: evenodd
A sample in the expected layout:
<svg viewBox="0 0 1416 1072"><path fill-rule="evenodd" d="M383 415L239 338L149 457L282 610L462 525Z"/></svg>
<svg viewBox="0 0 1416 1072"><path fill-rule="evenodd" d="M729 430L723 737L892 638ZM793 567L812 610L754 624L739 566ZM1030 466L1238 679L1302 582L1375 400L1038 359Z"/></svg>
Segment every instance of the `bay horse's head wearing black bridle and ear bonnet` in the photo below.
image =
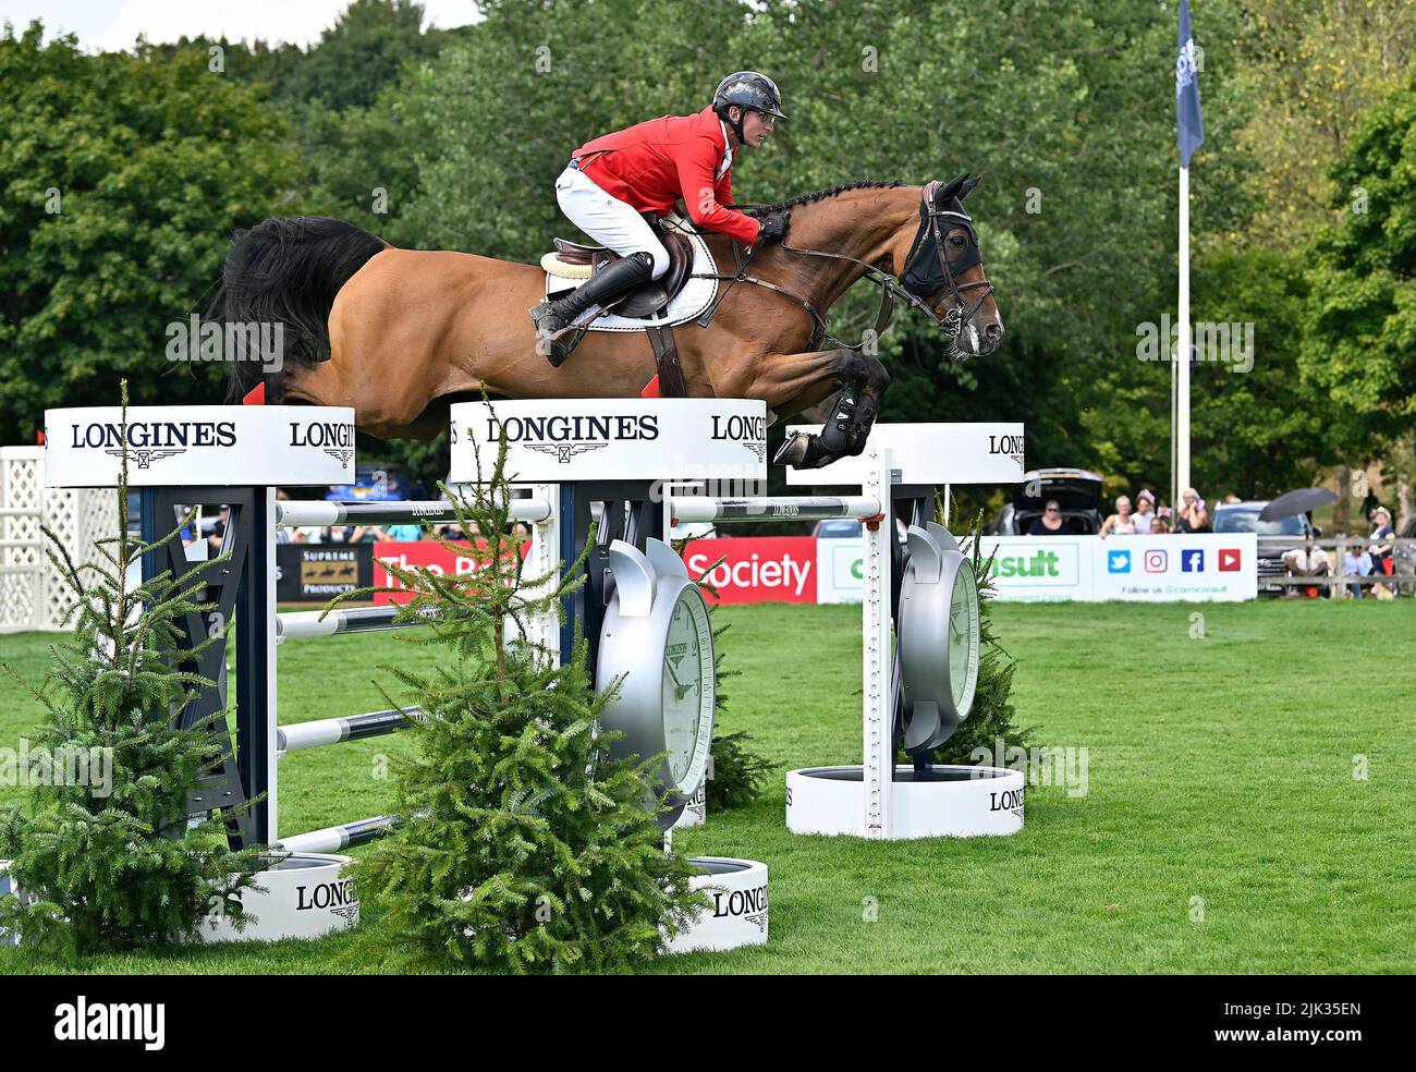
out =
<svg viewBox="0 0 1416 1072"><path fill-rule="evenodd" d="M976 186L978 180L967 174L926 186L919 229L895 265L905 290L929 307L954 353L964 355L991 354L1003 341L1003 317L983 270L978 231L963 207Z"/></svg>

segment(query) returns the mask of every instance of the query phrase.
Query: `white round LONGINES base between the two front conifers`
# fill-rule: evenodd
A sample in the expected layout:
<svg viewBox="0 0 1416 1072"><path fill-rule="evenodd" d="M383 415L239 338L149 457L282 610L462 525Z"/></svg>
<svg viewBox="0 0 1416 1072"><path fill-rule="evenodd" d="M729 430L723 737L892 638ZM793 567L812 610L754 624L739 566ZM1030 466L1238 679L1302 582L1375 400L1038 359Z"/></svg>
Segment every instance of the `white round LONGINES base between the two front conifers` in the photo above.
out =
<svg viewBox="0 0 1416 1072"><path fill-rule="evenodd" d="M256 875L265 891L245 889L241 903L251 922L236 930L218 905L201 922L204 942L273 942L323 937L358 925L358 901L347 878L351 857L296 853ZM252 919L253 916L253 919Z"/></svg>

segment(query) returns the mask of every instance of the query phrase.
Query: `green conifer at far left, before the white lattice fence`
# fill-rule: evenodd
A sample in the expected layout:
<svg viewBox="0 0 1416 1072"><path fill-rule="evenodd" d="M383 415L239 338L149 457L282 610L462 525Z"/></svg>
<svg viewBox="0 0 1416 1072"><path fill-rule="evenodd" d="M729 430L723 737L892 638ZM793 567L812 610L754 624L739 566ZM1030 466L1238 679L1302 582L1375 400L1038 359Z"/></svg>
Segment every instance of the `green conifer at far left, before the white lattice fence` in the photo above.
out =
<svg viewBox="0 0 1416 1072"><path fill-rule="evenodd" d="M126 381L122 398L126 443ZM207 606L195 600L200 575L224 559L130 586L130 568L166 538L129 537L126 447L120 472L119 532L95 544L96 559L76 565L44 530L75 596L52 671L33 685L6 667L44 707L30 753L52 762L47 773L31 762L25 773L40 783L24 804L0 809L0 857L24 895L0 896L0 930L59 954L193 939L214 898L239 916L232 898L259 867L258 850L228 850L225 816L187 814L197 779L222 759L211 724L225 712L188 729L173 721L197 690L215 687L180 668L191 653L178 643L183 617ZM224 643L225 629L197 651Z"/></svg>

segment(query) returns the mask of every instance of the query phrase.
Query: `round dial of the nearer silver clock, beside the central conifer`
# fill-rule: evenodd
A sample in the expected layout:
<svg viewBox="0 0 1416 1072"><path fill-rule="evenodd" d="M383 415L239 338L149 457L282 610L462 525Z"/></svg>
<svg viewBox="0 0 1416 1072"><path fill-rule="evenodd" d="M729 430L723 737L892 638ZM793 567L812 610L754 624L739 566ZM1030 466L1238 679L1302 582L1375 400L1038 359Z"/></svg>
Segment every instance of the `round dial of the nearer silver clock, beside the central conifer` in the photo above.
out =
<svg viewBox="0 0 1416 1072"><path fill-rule="evenodd" d="M692 793L708 765L715 698L712 627L695 588L678 593L664 643L664 748L680 792Z"/></svg>

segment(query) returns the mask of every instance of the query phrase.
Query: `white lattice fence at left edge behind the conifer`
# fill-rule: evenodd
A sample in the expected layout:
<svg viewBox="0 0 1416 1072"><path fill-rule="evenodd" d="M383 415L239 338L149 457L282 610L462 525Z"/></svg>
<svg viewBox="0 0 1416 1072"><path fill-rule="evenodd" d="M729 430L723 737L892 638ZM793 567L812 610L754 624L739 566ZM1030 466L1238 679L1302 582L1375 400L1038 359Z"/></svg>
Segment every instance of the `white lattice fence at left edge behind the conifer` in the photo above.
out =
<svg viewBox="0 0 1416 1072"><path fill-rule="evenodd" d="M62 629L72 599L50 565L41 525L76 562L93 541L118 535L112 490L45 489L44 447L0 447L0 633Z"/></svg>

